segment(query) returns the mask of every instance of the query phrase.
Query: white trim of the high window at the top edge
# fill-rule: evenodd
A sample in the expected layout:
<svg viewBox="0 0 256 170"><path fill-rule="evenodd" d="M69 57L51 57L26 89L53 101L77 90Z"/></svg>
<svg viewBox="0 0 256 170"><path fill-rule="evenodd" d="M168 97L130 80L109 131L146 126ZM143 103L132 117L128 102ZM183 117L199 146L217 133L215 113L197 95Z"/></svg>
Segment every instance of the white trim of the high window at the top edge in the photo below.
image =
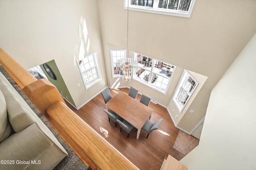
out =
<svg viewBox="0 0 256 170"><path fill-rule="evenodd" d="M152 8L148 8L148 7L135 6L135 5L130 5L130 4L129 4L129 10L190 18L195 2L196 2L196 0L191 0L190 8L189 8L188 12L177 11L177 10L167 10L167 9L160 9L160 8L152 9ZM129 3L130 3L130 0L129 0ZM128 5L128 0L124 0L124 9L125 10L127 10L127 5Z"/></svg>

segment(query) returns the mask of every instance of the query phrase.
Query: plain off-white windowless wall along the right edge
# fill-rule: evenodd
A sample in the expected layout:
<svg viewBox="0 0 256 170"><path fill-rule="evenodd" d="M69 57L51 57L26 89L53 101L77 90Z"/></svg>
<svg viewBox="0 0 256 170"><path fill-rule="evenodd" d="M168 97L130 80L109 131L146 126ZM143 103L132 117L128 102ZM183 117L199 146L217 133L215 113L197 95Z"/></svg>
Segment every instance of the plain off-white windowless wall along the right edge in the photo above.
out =
<svg viewBox="0 0 256 170"><path fill-rule="evenodd" d="M255 170L256 34L212 90L188 170Z"/></svg>

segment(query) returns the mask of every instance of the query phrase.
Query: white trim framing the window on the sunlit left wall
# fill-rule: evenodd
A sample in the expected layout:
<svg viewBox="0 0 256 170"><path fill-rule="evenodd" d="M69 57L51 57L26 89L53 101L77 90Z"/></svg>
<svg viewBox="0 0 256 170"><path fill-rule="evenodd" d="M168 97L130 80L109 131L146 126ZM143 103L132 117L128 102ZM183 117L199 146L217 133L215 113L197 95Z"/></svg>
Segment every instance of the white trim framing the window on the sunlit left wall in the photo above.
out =
<svg viewBox="0 0 256 170"><path fill-rule="evenodd" d="M79 68L79 70L80 70L80 74L81 74L82 80L83 80L83 82L84 82L84 87L85 87L86 90L88 90L88 88L92 87L94 84L96 84L96 83L98 83L100 80L102 80L101 74L100 74L98 53L97 53L97 51L96 51L96 52L94 52L94 53L92 53L92 54L90 54L90 55L93 55L93 56L94 56L94 60L95 60L95 64L96 64L96 71L97 71L98 78L95 79L95 80L93 80L92 82L90 82L90 83L88 83L88 84L86 84L86 83L84 82L83 73L82 73L82 70L80 69L79 61L81 61L81 60L78 59L78 60L76 61L77 64L78 64L78 68ZM89 55L87 55L87 56L89 56ZM85 57L87 57L87 56L85 56ZM84 58L85 58L85 57L84 57ZM84 59L84 58L83 58L83 59Z"/></svg>

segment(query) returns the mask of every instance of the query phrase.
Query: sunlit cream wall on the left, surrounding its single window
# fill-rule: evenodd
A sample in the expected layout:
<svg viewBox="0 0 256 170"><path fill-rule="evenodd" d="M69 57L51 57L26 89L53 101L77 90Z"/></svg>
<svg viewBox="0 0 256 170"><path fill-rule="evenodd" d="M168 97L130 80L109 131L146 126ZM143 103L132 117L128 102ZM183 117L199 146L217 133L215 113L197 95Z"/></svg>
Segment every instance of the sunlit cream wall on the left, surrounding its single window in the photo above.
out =
<svg viewBox="0 0 256 170"><path fill-rule="evenodd" d="M102 74L102 81L89 90L76 63L84 19L90 38L85 55L98 52ZM94 0L0 0L0 37L0 47L26 69L54 59L77 107L107 84Z"/></svg>

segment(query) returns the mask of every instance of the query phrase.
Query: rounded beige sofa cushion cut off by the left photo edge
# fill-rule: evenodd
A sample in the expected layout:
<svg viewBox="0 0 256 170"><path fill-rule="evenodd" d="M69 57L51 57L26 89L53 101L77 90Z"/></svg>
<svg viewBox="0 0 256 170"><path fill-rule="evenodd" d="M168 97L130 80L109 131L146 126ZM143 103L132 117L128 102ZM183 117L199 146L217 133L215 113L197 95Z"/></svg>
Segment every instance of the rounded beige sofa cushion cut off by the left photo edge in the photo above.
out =
<svg viewBox="0 0 256 170"><path fill-rule="evenodd" d="M6 102L4 94L0 89L0 143L12 133L11 125L8 121Z"/></svg>

